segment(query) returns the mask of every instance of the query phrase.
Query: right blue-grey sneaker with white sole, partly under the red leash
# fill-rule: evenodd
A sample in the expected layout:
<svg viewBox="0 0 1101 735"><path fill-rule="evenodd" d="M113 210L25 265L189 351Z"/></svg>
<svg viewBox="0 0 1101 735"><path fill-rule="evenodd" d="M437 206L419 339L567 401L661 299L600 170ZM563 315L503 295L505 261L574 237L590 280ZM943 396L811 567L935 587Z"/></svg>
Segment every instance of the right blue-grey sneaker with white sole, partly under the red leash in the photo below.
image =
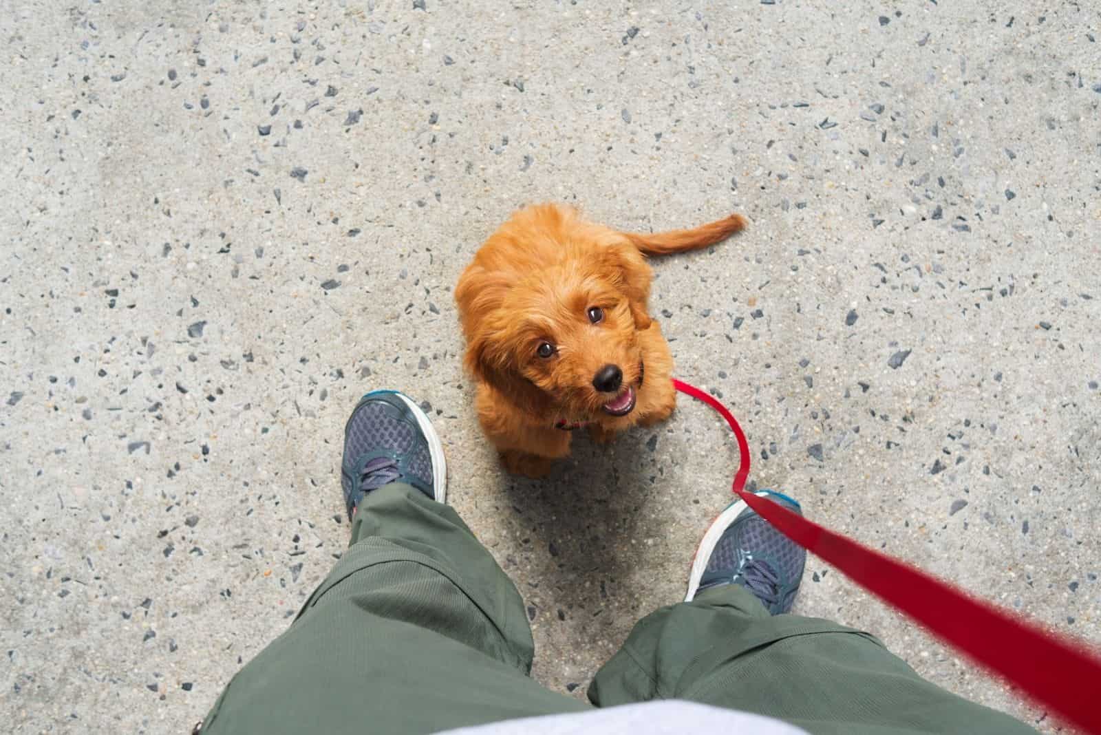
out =
<svg viewBox="0 0 1101 735"><path fill-rule="evenodd" d="M782 493L764 490L767 497L803 515L799 504ZM772 524L735 501L719 514L704 535L688 575L685 602L702 590L721 584L740 584L761 601L772 615L787 613L803 580L807 552Z"/></svg>

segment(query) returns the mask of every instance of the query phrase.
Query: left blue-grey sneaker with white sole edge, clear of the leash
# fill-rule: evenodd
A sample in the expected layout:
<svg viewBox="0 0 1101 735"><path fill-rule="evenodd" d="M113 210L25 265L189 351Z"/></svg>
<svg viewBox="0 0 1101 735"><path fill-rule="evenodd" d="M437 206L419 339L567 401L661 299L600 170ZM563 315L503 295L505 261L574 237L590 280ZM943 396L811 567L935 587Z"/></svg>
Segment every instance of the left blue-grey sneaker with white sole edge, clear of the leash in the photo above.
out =
<svg viewBox="0 0 1101 735"><path fill-rule="evenodd" d="M397 391L371 391L345 426L340 467L348 518L363 496L391 482L413 485L432 500L447 497L447 462L432 421Z"/></svg>

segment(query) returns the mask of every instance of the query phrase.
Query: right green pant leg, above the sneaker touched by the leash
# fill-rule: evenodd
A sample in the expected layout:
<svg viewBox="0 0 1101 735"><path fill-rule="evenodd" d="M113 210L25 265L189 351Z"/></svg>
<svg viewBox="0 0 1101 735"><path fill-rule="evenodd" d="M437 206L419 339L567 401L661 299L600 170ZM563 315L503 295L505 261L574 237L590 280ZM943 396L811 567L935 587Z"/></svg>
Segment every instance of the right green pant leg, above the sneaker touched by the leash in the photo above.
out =
<svg viewBox="0 0 1101 735"><path fill-rule="evenodd" d="M1035 733L925 681L866 633L768 615L738 585L642 619L588 694L597 706L690 700L776 717L815 735Z"/></svg>

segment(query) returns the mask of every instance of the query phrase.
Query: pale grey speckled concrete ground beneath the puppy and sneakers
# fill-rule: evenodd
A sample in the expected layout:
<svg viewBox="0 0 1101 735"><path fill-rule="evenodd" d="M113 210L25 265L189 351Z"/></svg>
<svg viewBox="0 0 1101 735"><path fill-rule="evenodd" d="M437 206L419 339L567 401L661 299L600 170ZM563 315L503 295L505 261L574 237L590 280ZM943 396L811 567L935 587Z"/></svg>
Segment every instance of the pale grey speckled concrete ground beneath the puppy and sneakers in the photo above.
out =
<svg viewBox="0 0 1101 735"><path fill-rule="evenodd" d="M686 380L809 515L1101 640L1089 3L23 2L0 18L0 714L181 732L340 553L356 398L580 695L674 602L730 438L682 402L543 483L479 436L450 288L516 206L752 226L656 263ZM1047 715L811 559L798 610Z"/></svg>

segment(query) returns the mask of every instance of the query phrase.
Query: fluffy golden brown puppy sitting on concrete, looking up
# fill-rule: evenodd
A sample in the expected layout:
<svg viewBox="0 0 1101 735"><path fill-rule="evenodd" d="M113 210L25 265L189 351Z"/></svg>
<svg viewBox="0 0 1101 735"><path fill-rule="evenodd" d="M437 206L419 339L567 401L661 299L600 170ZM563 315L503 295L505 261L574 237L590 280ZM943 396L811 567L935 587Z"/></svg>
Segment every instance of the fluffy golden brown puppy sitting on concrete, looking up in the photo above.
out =
<svg viewBox="0 0 1101 735"><path fill-rule="evenodd" d="M740 215L694 230L617 232L564 205L514 213L459 277L475 404L510 472L537 478L569 453L568 429L598 441L673 413L673 355L646 306L643 254L702 248Z"/></svg>

